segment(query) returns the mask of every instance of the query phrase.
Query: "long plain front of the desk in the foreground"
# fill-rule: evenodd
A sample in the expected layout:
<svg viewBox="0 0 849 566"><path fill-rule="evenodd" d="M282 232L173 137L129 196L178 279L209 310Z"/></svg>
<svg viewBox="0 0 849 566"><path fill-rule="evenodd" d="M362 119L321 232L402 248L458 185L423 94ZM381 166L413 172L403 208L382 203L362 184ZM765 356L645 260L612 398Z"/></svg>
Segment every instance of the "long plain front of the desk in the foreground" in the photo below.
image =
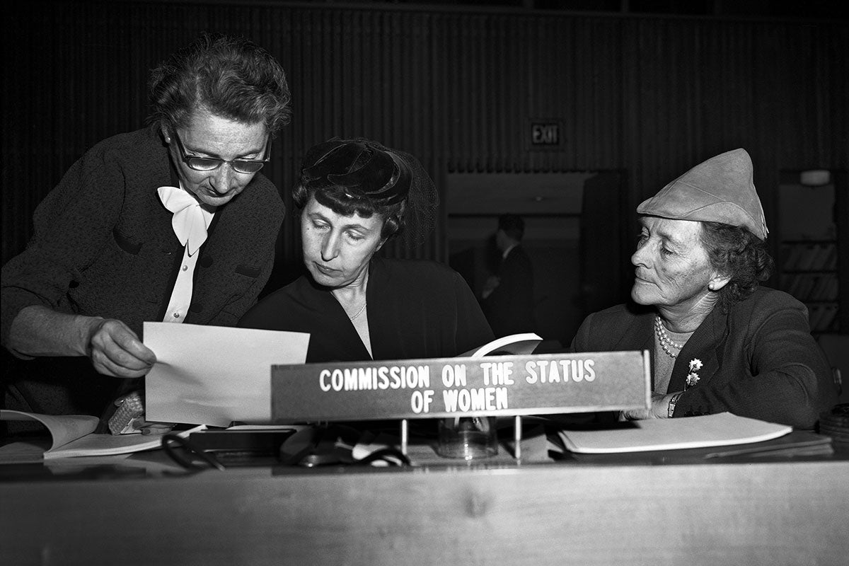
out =
<svg viewBox="0 0 849 566"><path fill-rule="evenodd" d="M672 460L674 458L671 458ZM849 461L238 468L0 482L42 564L845 564Z"/></svg>

